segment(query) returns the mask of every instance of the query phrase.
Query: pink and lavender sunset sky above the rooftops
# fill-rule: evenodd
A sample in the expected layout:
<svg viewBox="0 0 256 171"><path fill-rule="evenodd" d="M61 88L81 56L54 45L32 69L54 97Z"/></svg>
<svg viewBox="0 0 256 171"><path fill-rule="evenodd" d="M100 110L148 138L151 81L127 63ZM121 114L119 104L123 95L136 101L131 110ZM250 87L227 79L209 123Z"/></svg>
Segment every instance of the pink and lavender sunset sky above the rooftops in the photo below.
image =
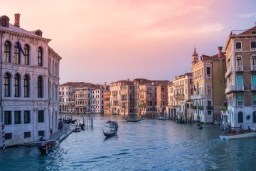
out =
<svg viewBox="0 0 256 171"><path fill-rule="evenodd" d="M8 0L1 15L21 14L61 57L60 83L172 81L191 72L191 54L212 56L231 30L255 26L254 0Z"/></svg>

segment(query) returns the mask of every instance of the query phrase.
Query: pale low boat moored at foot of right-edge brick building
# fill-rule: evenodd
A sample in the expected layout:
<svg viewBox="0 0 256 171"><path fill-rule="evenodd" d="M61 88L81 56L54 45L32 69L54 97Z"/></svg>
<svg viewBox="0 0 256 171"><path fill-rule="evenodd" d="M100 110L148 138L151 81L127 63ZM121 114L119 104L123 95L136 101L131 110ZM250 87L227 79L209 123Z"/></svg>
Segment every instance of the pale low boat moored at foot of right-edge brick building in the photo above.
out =
<svg viewBox="0 0 256 171"><path fill-rule="evenodd" d="M256 137L256 130L229 130L220 135L220 140Z"/></svg>

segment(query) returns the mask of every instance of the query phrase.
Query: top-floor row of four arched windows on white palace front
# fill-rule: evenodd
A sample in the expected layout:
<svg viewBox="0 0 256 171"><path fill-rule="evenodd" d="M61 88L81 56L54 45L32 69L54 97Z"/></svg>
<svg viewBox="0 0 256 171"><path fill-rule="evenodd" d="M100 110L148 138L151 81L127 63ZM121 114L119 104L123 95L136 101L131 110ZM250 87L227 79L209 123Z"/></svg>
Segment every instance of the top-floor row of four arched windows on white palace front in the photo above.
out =
<svg viewBox="0 0 256 171"><path fill-rule="evenodd" d="M30 63L30 46L26 44L24 46L24 64L29 65ZM5 41L4 42L4 60L6 63L11 63L11 42ZM14 46L14 63L21 64L21 51L18 49L18 44ZM43 48L38 48L38 66L43 66Z"/></svg>

